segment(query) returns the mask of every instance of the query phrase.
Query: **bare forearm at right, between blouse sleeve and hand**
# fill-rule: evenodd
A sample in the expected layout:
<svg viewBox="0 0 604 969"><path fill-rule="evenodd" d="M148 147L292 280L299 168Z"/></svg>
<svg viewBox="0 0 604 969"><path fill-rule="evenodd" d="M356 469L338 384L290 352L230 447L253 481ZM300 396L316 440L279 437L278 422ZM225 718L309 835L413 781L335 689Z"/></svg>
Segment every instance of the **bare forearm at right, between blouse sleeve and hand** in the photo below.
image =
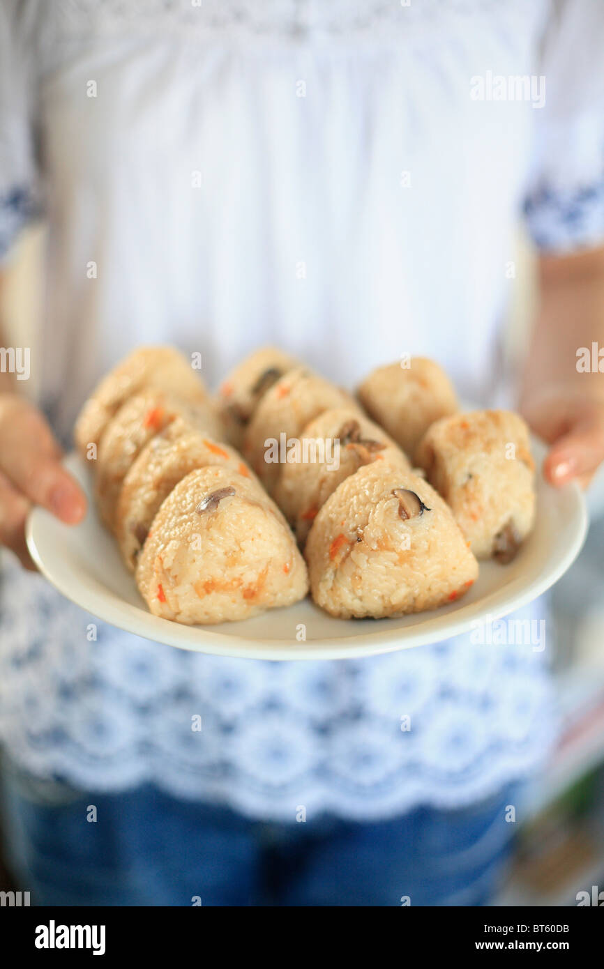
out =
<svg viewBox="0 0 604 969"><path fill-rule="evenodd" d="M543 257L539 283L540 308L526 356L523 404L557 385L604 400L604 248ZM578 357L581 348L587 353Z"/></svg>

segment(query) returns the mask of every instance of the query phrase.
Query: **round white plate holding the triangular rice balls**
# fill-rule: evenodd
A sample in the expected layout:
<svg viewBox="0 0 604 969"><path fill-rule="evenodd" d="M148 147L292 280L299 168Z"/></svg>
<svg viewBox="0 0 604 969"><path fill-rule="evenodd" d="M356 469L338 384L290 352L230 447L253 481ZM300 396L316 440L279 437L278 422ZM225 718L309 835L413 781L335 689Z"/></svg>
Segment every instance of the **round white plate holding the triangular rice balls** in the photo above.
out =
<svg viewBox="0 0 604 969"><path fill-rule="evenodd" d="M540 462L543 445L533 441ZM66 466L90 498L88 470L77 454ZM27 545L40 571L68 599L113 626L181 649L250 659L344 659L408 649L466 632L536 599L569 568L586 536L588 515L578 485L556 489L539 475L535 528L510 565L482 562L480 578L457 603L400 619L334 619L310 599L243 622L181 626L146 610L117 545L90 501L74 527L42 508L27 521ZM301 629L305 641L299 641Z"/></svg>

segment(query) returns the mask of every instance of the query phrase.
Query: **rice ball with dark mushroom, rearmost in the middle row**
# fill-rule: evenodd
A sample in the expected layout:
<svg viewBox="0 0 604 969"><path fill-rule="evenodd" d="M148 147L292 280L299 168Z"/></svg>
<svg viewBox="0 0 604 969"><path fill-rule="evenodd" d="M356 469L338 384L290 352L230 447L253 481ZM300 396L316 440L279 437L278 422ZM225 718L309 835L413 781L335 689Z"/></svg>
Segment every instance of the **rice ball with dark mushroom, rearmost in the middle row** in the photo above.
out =
<svg viewBox="0 0 604 969"><path fill-rule="evenodd" d="M227 440L240 451L245 428L263 395L300 361L276 347L262 347L238 363L217 394Z"/></svg>

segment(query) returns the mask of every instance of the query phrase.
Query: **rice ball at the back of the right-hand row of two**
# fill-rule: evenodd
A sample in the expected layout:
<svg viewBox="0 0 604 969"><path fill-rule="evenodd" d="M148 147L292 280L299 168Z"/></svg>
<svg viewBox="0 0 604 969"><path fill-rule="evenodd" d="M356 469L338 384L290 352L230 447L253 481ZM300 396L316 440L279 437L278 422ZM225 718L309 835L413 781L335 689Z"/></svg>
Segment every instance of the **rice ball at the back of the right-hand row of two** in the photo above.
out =
<svg viewBox="0 0 604 969"><path fill-rule="evenodd" d="M425 357L412 357L408 367L400 363L378 367L358 394L369 417L388 431L411 460L429 425L459 409L446 373Z"/></svg>

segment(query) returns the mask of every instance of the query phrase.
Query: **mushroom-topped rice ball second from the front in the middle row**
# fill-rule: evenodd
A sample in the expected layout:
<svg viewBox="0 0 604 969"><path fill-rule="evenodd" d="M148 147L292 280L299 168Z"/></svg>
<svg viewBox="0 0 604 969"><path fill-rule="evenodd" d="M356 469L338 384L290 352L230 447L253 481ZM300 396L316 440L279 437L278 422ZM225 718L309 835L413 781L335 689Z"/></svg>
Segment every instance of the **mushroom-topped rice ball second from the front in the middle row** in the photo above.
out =
<svg viewBox="0 0 604 969"><path fill-rule="evenodd" d="M303 546L319 509L340 482L372 461L411 470L382 427L350 407L325 411L302 432L300 448L283 465L274 499Z"/></svg>

